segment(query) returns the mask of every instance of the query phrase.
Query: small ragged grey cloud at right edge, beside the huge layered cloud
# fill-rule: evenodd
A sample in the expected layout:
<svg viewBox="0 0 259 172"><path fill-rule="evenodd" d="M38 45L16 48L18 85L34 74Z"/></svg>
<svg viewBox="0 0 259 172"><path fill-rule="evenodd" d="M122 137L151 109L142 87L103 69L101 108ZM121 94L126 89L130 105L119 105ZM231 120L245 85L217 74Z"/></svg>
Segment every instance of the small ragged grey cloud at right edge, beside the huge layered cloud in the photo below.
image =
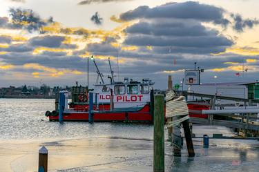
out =
<svg viewBox="0 0 259 172"><path fill-rule="evenodd" d="M238 32L243 32L244 28L253 28L253 26L259 24L257 19L242 19L241 15L234 14L232 14L231 17L234 20L233 28Z"/></svg>

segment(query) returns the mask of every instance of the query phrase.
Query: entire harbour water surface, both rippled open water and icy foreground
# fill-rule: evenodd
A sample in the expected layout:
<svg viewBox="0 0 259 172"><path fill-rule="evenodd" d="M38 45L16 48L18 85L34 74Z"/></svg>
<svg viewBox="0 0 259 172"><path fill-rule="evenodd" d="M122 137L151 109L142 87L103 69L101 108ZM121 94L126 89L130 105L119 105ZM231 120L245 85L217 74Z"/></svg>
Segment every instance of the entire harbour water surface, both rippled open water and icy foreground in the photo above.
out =
<svg viewBox="0 0 259 172"><path fill-rule="evenodd" d="M81 172L106 171L107 169L111 169L110 171L123 171L123 169L124 171L152 171L152 141L103 139L102 137L153 139L153 126L108 122L95 124L49 122L44 114L46 111L54 110L54 101L54 99L0 99L0 140L42 139L44 145L52 152L50 161L63 160L64 162L63 164L52 163L52 167L50 165L52 171ZM218 126L195 126L193 131L197 135L233 134L228 128ZM98 137L98 139L77 140L82 137ZM76 141L63 140L74 138ZM57 141L44 141L48 139ZM259 171L259 142L257 140L210 140L209 142L209 149L203 149L202 140L193 140L195 157L188 157L185 143L182 157L173 157L170 143L166 142L166 171ZM3 145L8 146L8 149L3 148ZM15 172L37 171L36 157L39 145L34 146L32 150L30 146L34 144L20 145L19 142L13 142L13 144L3 145L0 145L0 166L8 164L12 167L9 171ZM16 157L17 151L19 151L19 158ZM10 157L12 158L8 159ZM124 157L123 160L122 157ZM90 162L92 159L93 162ZM67 166L69 164L67 162L71 164L70 167Z"/></svg>

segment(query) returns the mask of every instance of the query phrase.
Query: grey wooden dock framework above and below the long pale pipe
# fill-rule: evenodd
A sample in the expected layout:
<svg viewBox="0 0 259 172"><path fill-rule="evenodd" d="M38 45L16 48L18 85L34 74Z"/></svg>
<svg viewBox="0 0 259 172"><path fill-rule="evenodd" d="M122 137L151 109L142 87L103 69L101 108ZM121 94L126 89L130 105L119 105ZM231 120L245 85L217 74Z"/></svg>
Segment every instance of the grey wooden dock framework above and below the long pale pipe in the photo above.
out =
<svg viewBox="0 0 259 172"><path fill-rule="evenodd" d="M227 106L233 106L231 104L216 104L218 99L231 100L234 102L241 102L243 106L252 106L253 104L259 104L259 99L244 99L238 97L227 97L221 95L207 95L200 93L188 93L183 92L182 95L185 97L191 96L196 97L197 99L206 99L203 103L188 101L189 104L203 104L209 106L211 110L215 110L217 107L224 108ZM233 106L235 107L235 106ZM202 111L193 111L190 110L190 113L198 113L201 114ZM218 116L218 117L217 117ZM218 120L215 118L219 117L227 117L227 120ZM206 124L206 125L218 125L218 126L227 126L229 128L235 128L238 133L242 133L244 136L258 136L259 135L259 120L256 114L252 113L220 113L220 114L210 114L208 119L202 119L197 117L190 117L190 122L195 124Z"/></svg>

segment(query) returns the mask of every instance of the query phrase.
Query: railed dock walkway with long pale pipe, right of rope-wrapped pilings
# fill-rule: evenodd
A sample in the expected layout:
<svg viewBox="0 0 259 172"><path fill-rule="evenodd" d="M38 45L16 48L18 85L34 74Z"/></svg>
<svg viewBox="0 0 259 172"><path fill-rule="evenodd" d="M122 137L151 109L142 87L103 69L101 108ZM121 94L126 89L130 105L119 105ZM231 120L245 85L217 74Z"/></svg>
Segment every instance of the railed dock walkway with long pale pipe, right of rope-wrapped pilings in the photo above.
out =
<svg viewBox="0 0 259 172"><path fill-rule="evenodd" d="M191 110L189 113L208 115L208 118L190 117L190 122L195 124L218 125L233 128L238 135L245 137L259 135L258 99L244 99L238 97L227 97L221 95L207 95L200 93L183 92L185 97L195 97L195 101L187 101L188 104L208 106L208 110ZM221 100L239 102L242 106L233 104L218 104Z"/></svg>

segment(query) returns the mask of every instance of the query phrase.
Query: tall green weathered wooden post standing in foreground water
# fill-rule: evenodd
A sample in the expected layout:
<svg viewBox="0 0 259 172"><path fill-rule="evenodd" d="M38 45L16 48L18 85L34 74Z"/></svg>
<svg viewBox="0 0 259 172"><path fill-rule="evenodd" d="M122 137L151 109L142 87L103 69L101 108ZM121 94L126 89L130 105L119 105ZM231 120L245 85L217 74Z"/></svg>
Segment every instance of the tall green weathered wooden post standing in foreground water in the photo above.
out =
<svg viewBox="0 0 259 172"><path fill-rule="evenodd" d="M155 95L154 109L154 172L164 172L164 95Z"/></svg>

